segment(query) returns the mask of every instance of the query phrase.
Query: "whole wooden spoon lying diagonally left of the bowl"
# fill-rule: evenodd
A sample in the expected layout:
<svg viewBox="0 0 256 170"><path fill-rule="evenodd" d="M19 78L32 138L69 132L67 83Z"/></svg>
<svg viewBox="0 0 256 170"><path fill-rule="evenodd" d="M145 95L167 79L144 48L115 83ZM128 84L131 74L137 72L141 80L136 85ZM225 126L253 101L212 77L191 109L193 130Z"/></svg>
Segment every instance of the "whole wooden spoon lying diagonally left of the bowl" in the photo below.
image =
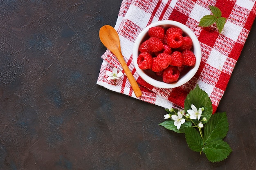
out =
<svg viewBox="0 0 256 170"><path fill-rule="evenodd" d="M126 76L132 86L136 97L140 97L142 93L139 85L134 79L132 73L130 72L126 62L124 61L117 31L110 25L104 25L99 30L99 39L101 40L102 44L106 46L117 57L121 66L124 69L124 72L126 73Z"/></svg>

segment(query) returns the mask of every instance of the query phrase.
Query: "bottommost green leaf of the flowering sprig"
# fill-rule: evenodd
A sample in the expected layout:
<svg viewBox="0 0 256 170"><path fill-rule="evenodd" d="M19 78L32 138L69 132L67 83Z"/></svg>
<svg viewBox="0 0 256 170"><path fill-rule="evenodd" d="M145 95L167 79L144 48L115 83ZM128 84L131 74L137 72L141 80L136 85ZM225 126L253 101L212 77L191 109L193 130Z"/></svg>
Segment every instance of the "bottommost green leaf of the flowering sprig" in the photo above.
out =
<svg viewBox="0 0 256 170"><path fill-rule="evenodd" d="M223 161L232 152L229 144L222 140L213 141L206 144L202 151L206 155L207 159L211 162Z"/></svg>

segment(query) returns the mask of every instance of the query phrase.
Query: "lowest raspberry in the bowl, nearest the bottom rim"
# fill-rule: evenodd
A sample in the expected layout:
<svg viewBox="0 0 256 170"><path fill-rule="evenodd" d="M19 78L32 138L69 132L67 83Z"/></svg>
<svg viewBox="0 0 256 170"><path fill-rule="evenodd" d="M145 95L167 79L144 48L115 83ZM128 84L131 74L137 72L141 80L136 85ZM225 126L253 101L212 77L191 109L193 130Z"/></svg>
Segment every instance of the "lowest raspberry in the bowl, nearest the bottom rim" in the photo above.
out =
<svg viewBox="0 0 256 170"><path fill-rule="evenodd" d="M174 66L168 66L163 73L163 82L172 83L179 79L180 72Z"/></svg>

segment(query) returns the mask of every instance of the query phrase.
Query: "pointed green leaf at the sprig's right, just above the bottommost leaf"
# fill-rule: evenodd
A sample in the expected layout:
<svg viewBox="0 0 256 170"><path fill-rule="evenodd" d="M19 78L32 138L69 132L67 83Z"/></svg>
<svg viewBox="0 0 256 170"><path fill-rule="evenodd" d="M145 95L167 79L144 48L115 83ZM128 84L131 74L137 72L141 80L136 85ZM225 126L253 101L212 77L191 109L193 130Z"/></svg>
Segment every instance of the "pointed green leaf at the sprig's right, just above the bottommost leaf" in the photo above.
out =
<svg viewBox="0 0 256 170"><path fill-rule="evenodd" d="M204 126L204 143L220 140L226 137L229 123L225 112L215 113Z"/></svg>

